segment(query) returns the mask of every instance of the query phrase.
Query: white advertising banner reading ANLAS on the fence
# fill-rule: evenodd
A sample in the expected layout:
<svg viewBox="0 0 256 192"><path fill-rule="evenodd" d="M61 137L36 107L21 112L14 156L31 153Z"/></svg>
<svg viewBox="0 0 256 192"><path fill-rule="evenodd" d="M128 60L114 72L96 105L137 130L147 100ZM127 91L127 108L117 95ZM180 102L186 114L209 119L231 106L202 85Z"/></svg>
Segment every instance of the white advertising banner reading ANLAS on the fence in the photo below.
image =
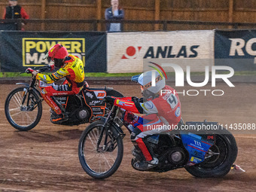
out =
<svg viewBox="0 0 256 192"><path fill-rule="evenodd" d="M142 72L143 59L212 61L213 38L214 31L108 33L108 72ZM212 66L212 63L197 62L191 71L201 72L202 66Z"/></svg>

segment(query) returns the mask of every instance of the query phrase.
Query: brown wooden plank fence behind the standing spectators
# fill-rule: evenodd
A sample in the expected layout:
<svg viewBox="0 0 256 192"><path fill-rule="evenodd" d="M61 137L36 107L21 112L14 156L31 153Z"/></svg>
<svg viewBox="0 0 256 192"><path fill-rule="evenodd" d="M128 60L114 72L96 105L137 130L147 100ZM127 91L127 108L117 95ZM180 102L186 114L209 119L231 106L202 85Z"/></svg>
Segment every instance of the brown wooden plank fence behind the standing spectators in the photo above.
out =
<svg viewBox="0 0 256 192"><path fill-rule="evenodd" d="M254 0L119 0L125 10L125 20L197 20L211 22L254 23L256 1ZM3 14L7 1L0 2L0 13ZM31 19L71 19L71 20L104 20L105 8L110 0L19 0ZM71 25L72 30L75 26ZM128 26L124 26L128 27ZM131 27L131 26L129 26ZM136 30L139 26L132 26ZM146 30L162 29L159 24L140 26ZM228 26L227 26L228 27ZM27 26L26 30L45 30L40 26ZM57 27L56 27L57 28ZM224 26L226 28L226 26ZM215 26L173 25L167 30L181 29L215 29ZM91 30L85 27L82 30ZM97 30L105 30L98 24ZM141 29L138 28L138 31Z"/></svg>

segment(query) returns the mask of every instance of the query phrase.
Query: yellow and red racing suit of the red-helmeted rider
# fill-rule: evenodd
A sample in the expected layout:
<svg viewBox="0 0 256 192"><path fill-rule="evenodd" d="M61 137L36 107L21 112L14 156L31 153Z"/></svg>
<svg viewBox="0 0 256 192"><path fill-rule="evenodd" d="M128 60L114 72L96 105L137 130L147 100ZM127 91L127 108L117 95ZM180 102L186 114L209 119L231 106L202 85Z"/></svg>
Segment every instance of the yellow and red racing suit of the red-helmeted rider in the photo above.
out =
<svg viewBox="0 0 256 192"><path fill-rule="evenodd" d="M66 56L64 65L58 71L51 75L38 73L36 78L47 84L51 84L61 78L66 78L66 81L62 85L44 87L44 89L41 90L41 96L45 102L50 105L50 108L52 108L56 114L62 114L65 112L64 108L56 102L53 96L75 95L80 92L85 84L84 64L77 56L69 54L69 56Z"/></svg>

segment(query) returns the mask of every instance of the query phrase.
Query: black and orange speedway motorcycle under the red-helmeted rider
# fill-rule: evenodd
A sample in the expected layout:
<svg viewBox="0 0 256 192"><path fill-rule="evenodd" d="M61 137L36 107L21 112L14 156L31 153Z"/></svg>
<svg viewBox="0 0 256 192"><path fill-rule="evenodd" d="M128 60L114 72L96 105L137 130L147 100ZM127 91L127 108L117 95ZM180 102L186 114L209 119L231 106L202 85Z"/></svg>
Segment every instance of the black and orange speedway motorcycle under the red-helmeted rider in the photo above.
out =
<svg viewBox="0 0 256 192"><path fill-rule="evenodd" d="M50 70L49 66L38 69L38 72ZM39 90L53 84L45 84L38 81L35 75L32 75L29 84L17 83L22 87L17 87L9 93L5 101L5 116L11 126L20 131L27 131L34 128L41 120L43 98ZM37 87L39 89L37 89ZM99 117L104 117L111 105L106 104L102 99L105 96L123 95L112 88L89 88L84 86L80 93L73 96L54 96L56 102L59 102L66 109L68 120L57 122L58 124L73 126L81 123L92 123ZM50 110L51 117L54 111ZM54 123L53 121L51 121Z"/></svg>

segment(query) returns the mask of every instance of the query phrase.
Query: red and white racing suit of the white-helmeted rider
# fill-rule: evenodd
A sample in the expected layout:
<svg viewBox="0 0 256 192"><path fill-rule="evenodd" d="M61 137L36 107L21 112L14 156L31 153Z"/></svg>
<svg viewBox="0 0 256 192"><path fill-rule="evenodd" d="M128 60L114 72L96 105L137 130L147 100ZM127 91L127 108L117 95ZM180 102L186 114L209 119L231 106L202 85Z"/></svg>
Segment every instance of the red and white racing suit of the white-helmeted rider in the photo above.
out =
<svg viewBox="0 0 256 192"><path fill-rule="evenodd" d="M144 138L169 131L170 129L164 129L164 127L175 127L181 120L181 102L178 94L169 86L165 86L159 95L147 99L146 102L133 102L133 98L125 97L115 99L114 105L126 109L126 111L144 114L142 124L136 123L136 120L130 122L130 124L136 125L131 133L131 141L139 147L148 162L153 157L151 150L145 145Z"/></svg>

